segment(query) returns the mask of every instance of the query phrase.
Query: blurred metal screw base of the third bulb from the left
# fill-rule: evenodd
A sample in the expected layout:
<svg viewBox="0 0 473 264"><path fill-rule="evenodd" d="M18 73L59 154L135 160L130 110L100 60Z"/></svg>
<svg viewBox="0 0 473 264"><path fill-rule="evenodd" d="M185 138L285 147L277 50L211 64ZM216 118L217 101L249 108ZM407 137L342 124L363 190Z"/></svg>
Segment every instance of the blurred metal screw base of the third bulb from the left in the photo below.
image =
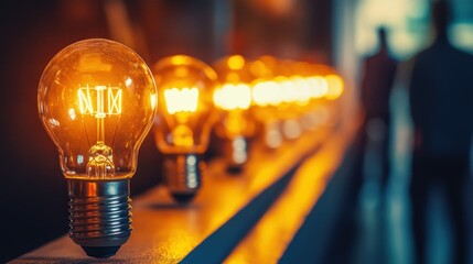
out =
<svg viewBox="0 0 473 264"><path fill-rule="evenodd" d="M248 141L245 136L237 136L225 141L224 144L227 172L238 174L248 161Z"/></svg>

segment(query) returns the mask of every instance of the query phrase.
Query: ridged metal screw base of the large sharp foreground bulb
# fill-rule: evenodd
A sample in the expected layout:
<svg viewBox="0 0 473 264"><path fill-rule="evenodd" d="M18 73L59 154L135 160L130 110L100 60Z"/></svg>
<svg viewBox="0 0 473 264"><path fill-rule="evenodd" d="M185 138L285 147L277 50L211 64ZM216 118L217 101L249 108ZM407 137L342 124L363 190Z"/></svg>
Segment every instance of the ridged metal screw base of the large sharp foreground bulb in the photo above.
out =
<svg viewBox="0 0 473 264"><path fill-rule="evenodd" d="M114 256L131 233L130 179L67 179L69 237L93 257Z"/></svg>

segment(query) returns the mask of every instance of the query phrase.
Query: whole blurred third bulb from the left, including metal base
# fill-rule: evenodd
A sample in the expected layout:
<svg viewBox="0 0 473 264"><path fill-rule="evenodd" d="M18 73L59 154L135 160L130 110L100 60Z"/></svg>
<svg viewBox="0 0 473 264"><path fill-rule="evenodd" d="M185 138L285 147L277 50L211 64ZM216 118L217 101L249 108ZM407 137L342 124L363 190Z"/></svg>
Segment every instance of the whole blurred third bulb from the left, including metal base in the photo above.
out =
<svg viewBox="0 0 473 264"><path fill-rule="evenodd" d="M241 55L223 57L213 66L222 84L214 92L214 103L221 113L216 133L225 140L228 172L237 173L248 160L248 138L255 133L250 112L250 84L255 77Z"/></svg>

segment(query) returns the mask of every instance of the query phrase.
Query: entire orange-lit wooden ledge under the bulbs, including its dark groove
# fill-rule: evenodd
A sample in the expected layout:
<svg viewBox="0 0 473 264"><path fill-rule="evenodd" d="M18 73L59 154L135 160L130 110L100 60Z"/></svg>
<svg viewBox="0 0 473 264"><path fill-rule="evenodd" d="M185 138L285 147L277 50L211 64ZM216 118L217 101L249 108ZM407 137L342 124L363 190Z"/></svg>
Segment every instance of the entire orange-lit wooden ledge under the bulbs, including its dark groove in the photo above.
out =
<svg viewBox="0 0 473 264"><path fill-rule="evenodd" d="M131 238L111 258L88 257L64 235L12 263L273 263L353 134L353 125L321 128L277 151L255 145L239 175L228 175L224 162L214 160L189 206L175 205L161 186L133 198Z"/></svg>

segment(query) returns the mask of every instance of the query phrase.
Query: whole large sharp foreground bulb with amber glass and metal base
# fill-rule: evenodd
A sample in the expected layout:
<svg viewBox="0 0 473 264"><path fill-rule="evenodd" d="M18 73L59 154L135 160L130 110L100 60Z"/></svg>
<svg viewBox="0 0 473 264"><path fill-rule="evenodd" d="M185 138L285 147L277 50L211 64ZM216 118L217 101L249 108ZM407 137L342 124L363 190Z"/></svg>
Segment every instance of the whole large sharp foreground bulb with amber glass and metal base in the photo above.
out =
<svg viewBox="0 0 473 264"><path fill-rule="evenodd" d="M115 255L130 237L129 180L155 105L146 63L108 40L65 47L41 76L37 108L67 179L69 237L89 256Z"/></svg>

